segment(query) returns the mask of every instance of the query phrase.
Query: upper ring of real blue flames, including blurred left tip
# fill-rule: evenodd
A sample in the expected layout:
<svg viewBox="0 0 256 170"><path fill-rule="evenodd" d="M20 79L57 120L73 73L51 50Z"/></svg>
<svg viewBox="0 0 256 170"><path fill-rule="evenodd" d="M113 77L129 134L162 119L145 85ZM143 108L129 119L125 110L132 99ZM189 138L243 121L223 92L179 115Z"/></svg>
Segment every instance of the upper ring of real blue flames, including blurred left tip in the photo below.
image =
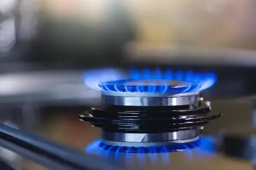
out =
<svg viewBox="0 0 256 170"><path fill-rule="evenodd" d="M161 84L154 81L146 85L138 80L161 80ZM184 93L202 91L213 86L217 77L214 73L194 72L171 69L131 69L129 74L124 74L116 69L101 69L86 71L83 82L87 87L95 90L117 92L149 92L149 93ZM132 86L131 81L138 81ZM183 82L179 85L170 85L170 81ZM184 84L184 82L186 82Z"/></svg>

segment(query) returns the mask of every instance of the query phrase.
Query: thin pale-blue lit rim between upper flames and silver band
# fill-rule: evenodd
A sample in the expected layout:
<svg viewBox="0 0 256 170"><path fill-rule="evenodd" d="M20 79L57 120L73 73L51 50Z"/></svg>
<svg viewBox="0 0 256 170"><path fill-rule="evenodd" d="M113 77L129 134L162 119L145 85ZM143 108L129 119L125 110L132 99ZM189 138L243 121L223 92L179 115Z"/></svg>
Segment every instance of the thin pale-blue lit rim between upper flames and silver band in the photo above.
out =
<svg viewBox="0 0 256 170"><path fill-rule="evenodd" d="M101 91L105 96L119 96L119 97L183 97L198 95L199 91L187 92L187 93L154 93L154 92L120 92L120 91Z"/></svg>

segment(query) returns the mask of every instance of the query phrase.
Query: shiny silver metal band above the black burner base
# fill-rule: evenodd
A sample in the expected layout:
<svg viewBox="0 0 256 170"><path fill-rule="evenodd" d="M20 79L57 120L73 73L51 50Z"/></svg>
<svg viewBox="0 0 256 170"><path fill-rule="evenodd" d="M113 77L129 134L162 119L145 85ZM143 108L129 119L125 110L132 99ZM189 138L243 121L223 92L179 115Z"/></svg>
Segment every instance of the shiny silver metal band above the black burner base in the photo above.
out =
<svg viewBox="0 0 256 170"><path fill-rule="evenodd" d="M121 97L102 95L103 105L118 106L182 106L193 105L198 101L199 96L183 97Z"/></svg>

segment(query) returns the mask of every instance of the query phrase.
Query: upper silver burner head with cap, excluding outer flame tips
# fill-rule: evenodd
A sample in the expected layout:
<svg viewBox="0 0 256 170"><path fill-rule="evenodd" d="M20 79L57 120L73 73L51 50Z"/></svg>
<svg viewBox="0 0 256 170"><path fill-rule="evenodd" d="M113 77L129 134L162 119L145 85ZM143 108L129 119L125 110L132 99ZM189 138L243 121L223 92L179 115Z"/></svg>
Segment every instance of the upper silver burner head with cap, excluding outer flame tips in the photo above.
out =
<svg viewBox="0 0 256 170"><path fill-rule="evenodd" d="M100 87L103 105L191 105L196 103L199 94L197 83L171 80L110 81L101 83Z"/></svg>

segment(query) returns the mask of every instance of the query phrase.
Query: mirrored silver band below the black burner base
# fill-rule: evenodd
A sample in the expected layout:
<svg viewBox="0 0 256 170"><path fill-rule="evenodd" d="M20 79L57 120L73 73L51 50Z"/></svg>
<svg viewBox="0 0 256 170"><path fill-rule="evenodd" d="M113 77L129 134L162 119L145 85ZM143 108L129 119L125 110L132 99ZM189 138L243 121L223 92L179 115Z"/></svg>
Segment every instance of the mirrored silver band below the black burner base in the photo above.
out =
<svg viewBox="0 0 256 170"><path fill-rule="evenodd" d="M174 142L193 139L201 133L200 128L167 133L117 133L102 131L102 139L116 142Z"/></svg>

